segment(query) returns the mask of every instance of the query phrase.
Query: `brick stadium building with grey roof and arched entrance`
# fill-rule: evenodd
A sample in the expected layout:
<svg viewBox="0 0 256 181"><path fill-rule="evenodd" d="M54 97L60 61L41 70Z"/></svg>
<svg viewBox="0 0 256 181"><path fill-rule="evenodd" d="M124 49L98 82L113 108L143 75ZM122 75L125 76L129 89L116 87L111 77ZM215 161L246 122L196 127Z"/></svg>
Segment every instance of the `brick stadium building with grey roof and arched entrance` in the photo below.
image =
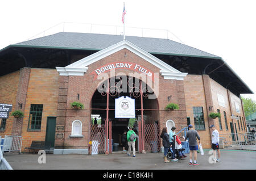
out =
<svg viewBox="0 0 256 181"><path fill-rule="evenodd" d="M134 120L139 151L158 151L163 127L194 125L204 148L210 148L211 124L220 134L246 132L240 94L253 93L249 87L221 57L168 39L60 32L9 45L0 62L0 103L24 112L0 119L0 136L23 136L22 150L47 140L59 153L87 153L93 141L100 146L92 151L105 153L107 140L120 143ZM115 116L122 96L134 99L134 119ZM72 102L84 108L74 110ZM167 111L169 103L179 110Z"/></svg>

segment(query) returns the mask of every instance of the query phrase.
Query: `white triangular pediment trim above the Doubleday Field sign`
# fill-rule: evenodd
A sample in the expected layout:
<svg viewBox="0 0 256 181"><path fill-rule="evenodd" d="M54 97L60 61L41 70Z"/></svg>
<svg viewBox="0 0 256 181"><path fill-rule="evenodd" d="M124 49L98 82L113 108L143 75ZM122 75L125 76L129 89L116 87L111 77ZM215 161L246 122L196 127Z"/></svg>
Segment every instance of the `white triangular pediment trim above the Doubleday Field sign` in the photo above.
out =
<svg viewBox="0 0 256 181"><path fill-rule="evenodd" d="M56 69L57 71L59 71L60 75L83 76L84 73L86 73L86 71L88 70L88 66L90 64L93 64L94 62L97 62L98 60L101 60L102 58L105 58L110 54L113 54L125 48L137 54L137 56L143 58L144 60L150 62L150 64L159 68L160 74L164 77L164 79L183 80L183 78L187 76L187 73L181 73L181 71L176 70L172 66L166 64L162 60L159 60L155 56L152 56L152 54L137 47L136 45L130 43L127 40L122 40L117 44L93 53L88 57L82 58L81 60L74 62L71 65L65 66L65 68L56 67Z"/></svg>

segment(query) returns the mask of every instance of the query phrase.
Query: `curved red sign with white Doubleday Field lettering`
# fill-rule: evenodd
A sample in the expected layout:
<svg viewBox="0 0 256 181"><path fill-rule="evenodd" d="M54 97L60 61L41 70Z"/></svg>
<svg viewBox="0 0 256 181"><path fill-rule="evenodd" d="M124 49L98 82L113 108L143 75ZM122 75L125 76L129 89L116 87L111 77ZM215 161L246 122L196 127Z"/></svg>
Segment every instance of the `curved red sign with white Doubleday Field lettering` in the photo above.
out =
<svg viewBox="0 0 256 181"><path fill-rule="evenodd" d="M147 77L150 77L152 81L154 81L154 74L152 73L151 70L144 68L143 66L139 64L135 64L132 62L112 62L106 65L101 66L100 68L94 70L92 73L94 75L93 81L97 78L98 75L101 73L106 73L112 69L128 69L128 70L133 70L137 71L138 73L143 73Z"/></svg>

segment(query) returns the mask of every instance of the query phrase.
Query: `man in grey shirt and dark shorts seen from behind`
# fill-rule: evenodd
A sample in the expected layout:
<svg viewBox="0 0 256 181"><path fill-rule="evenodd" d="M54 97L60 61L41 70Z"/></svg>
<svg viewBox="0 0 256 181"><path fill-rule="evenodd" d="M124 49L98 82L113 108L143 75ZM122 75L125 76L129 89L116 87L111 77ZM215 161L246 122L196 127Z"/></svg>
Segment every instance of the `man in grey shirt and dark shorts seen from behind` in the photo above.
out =
<svg viewBox="0 0 256 181"><path fill-rule="evenodd" d="M193 126L191 124L188 125L188 129L189 129L189 131L186 134L185 140L188 139L189 150L190 150L190 152L189 152L189 165L199 165L199 163L196 162L197 150L198 150L198 145L197 145L196 138L199 140L199 144L200 144L200 136L197 133L197 131L195 131L193 129ZM193 163L192 163L192 156L194 157L194 162Z"/></svg>

